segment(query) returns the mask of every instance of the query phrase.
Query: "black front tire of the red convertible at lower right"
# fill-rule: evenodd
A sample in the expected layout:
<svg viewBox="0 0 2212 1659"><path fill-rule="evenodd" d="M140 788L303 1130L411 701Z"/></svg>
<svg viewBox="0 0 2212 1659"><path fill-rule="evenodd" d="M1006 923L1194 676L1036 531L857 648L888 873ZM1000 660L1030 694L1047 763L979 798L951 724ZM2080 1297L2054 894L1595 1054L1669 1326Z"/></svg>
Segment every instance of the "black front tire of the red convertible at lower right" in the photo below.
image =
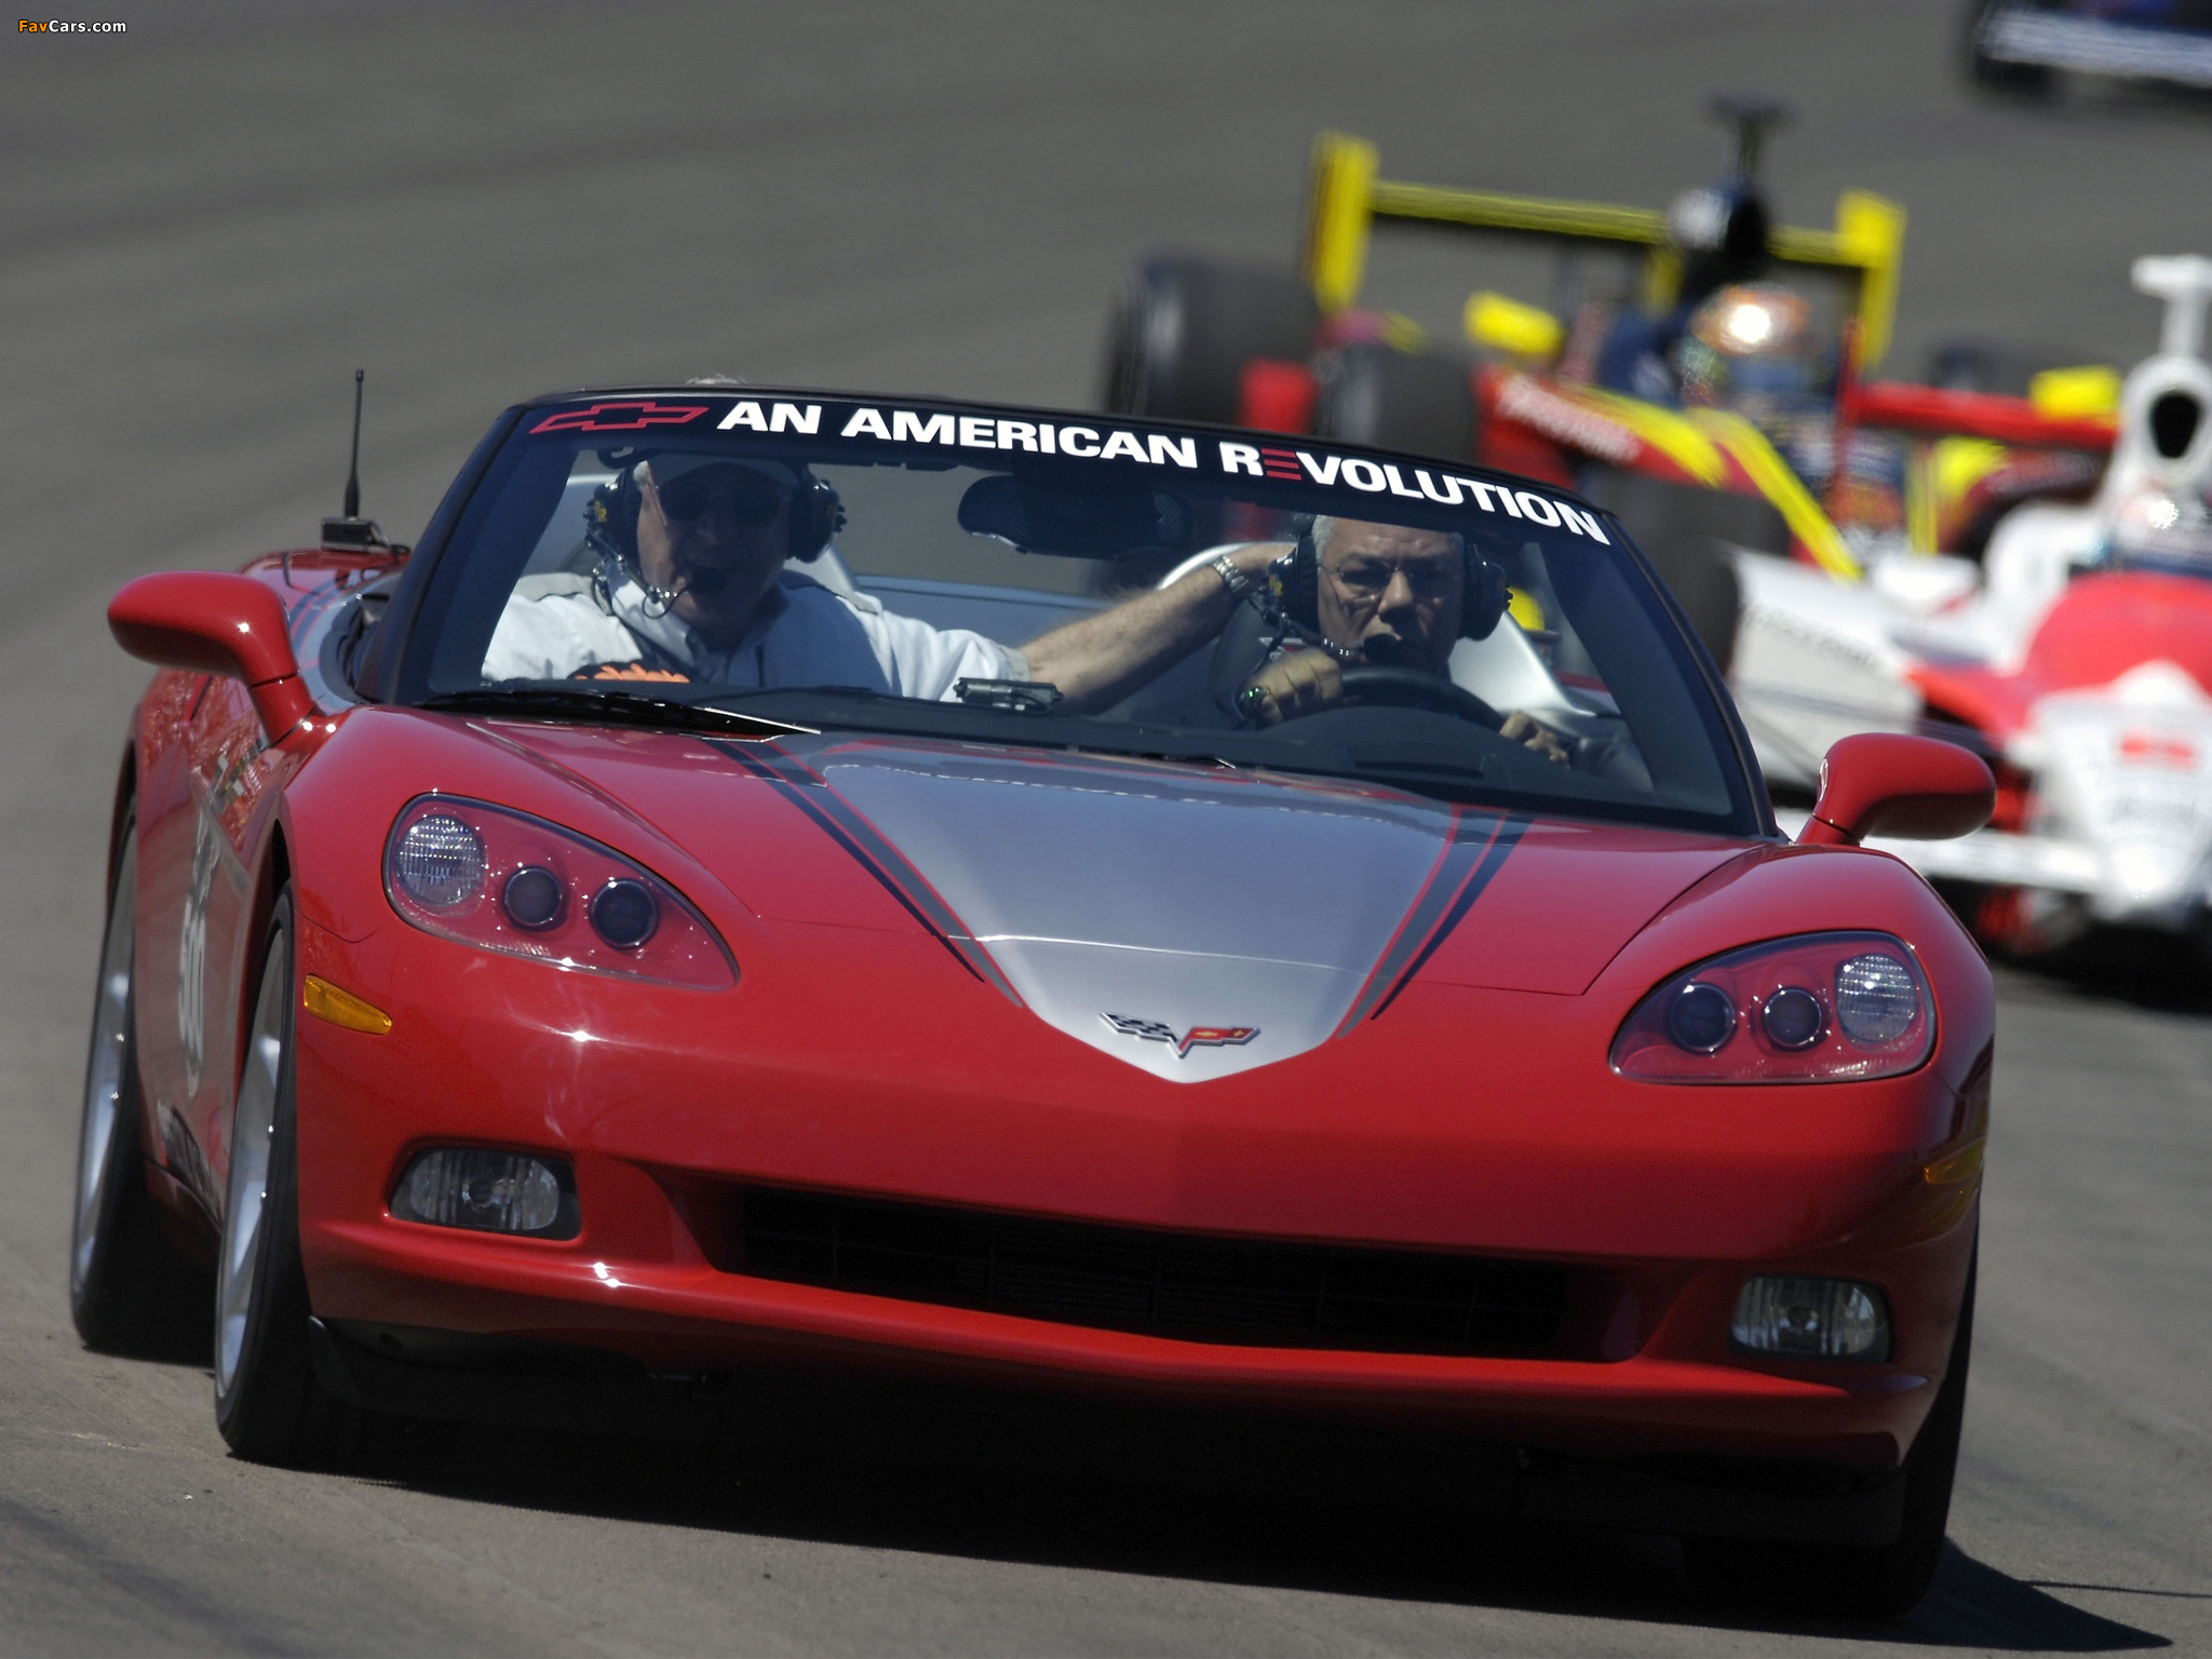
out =
<svg viewBox="0 0 2212 1659"><path fill-rule="evenodd" d="M1975 1252L1980 1256L1980 1252ZM1898 1537L1878 1546L1743 1544L1686 1537L1683 1571L1710 1599L1774 1606L1863 1621L1909 1613L1936 1582L1951 1484L1958 1475L1960 1429L1966 1422L1966 1367L1973 1358L1973 1287L1980 1261L1966 1267L1966 1294L1951 1338L1951 1365L1920 1438L1905 1458L1905 1515Z"/></svg>

